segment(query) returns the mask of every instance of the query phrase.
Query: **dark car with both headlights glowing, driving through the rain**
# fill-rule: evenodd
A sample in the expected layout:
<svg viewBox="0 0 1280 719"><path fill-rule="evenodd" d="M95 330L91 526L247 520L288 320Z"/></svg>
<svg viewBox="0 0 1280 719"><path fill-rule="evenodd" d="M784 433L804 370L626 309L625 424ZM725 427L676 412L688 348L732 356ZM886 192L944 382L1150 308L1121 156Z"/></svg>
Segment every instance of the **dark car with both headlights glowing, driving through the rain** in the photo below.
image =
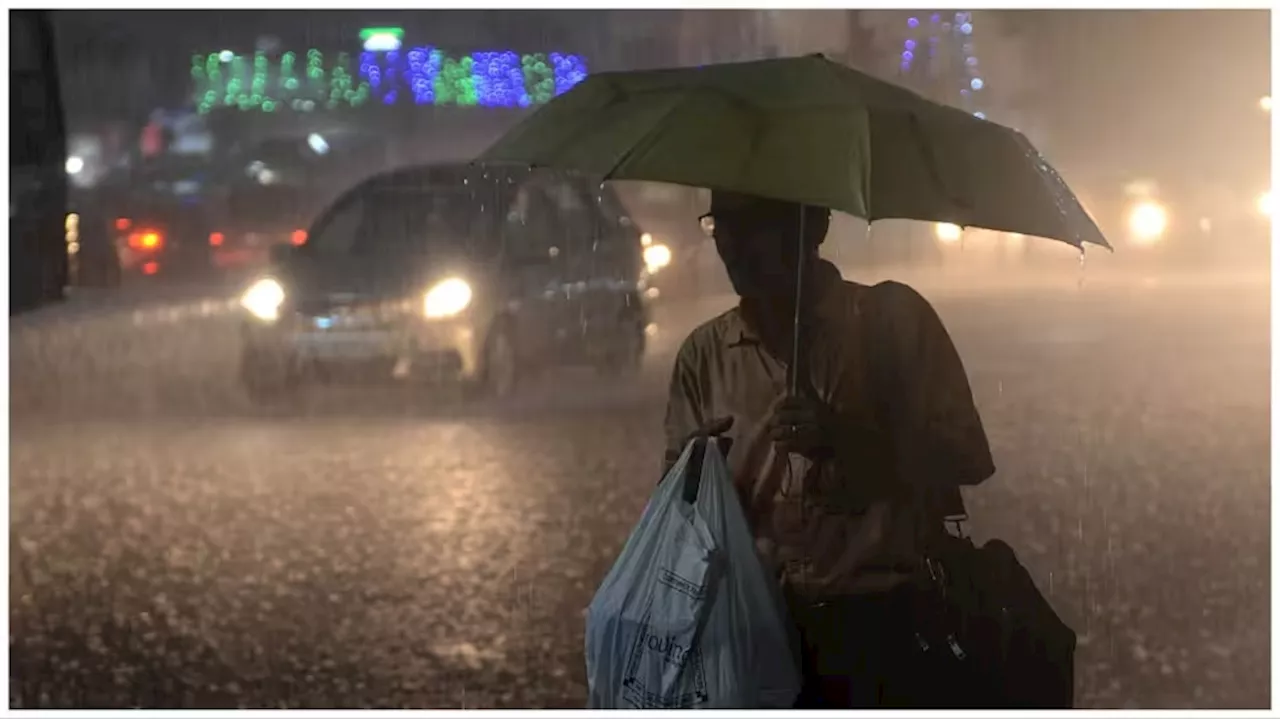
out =
<svg viewBox="0 0 1280 719"><path fill-rule="evenodd" d="M641 252L617 197L584 175L376 175L244 290L243 386L270 400L317 379L420 379L504 398L547 367L634 371L649 321Z"/></svg>

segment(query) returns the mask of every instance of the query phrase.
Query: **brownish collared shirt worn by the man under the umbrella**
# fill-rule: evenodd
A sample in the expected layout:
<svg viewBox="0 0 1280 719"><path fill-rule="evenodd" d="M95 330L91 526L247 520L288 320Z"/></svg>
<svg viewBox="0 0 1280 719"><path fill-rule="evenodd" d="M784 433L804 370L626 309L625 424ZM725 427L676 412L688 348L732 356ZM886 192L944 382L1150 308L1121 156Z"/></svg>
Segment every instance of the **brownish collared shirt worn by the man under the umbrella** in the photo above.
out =
<svg viewBox="0 0 1280 719"><path fill-rule="evenodd" d="M774 449L767 423L787 367L740 307L681 347L666 436L669 461L705 422L733 417L728 466L760 555L790 591L819 600L900 583L920 564L922 528L937 521L918 498L963 512L959 486L995 467L964 366L928 301L897 283L845 281L827 264L810 287L809 391L849 441L817 462Z"/></svg>

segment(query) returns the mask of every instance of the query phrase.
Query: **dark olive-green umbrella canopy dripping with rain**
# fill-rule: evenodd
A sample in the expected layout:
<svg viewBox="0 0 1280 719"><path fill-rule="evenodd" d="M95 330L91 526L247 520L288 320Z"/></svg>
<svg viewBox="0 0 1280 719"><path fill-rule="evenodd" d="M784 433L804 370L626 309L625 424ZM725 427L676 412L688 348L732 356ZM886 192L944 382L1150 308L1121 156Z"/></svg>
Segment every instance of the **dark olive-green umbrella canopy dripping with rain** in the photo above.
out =
<svg viewBox="0 0 1280 719"><path fill-rule="evenodd" d="M1021 133L820 55L591 75L479 160L1110 247Z"/></svg>

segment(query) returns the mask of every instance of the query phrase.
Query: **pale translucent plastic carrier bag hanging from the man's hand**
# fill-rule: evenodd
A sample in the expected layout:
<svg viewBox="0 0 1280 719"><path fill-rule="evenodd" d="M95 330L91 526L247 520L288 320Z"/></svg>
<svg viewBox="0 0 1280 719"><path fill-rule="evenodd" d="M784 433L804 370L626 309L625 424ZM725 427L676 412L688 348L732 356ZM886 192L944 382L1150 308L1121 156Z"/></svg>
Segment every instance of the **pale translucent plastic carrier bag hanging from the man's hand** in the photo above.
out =
<svg viewBox="0 0 1280 719"><path fill-rule="evenodd" d="M800 672L783 606L719 449L690 443L588 609L589 706L790 709Z"/></svg>

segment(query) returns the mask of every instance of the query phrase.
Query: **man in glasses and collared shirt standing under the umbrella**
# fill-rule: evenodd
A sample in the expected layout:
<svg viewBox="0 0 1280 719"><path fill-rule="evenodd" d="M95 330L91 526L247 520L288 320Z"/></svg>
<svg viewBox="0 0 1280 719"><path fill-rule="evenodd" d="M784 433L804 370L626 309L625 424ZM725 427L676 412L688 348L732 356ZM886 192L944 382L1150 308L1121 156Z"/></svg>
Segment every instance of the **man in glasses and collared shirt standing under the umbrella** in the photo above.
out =
<svg viewBox="0 0 1280 719"><path fill-rule="evenodd" d="M829 217L713 193L704 224L741 302L680 349L667 462L694 436L732 440L739 496L801 638L799 706L923 707L940 687L918 667L922 542L963 514L959 486L995 467L937 313L906 285L845 281L818 256ZM804 381L787 397L800 261Z"/></svg>

